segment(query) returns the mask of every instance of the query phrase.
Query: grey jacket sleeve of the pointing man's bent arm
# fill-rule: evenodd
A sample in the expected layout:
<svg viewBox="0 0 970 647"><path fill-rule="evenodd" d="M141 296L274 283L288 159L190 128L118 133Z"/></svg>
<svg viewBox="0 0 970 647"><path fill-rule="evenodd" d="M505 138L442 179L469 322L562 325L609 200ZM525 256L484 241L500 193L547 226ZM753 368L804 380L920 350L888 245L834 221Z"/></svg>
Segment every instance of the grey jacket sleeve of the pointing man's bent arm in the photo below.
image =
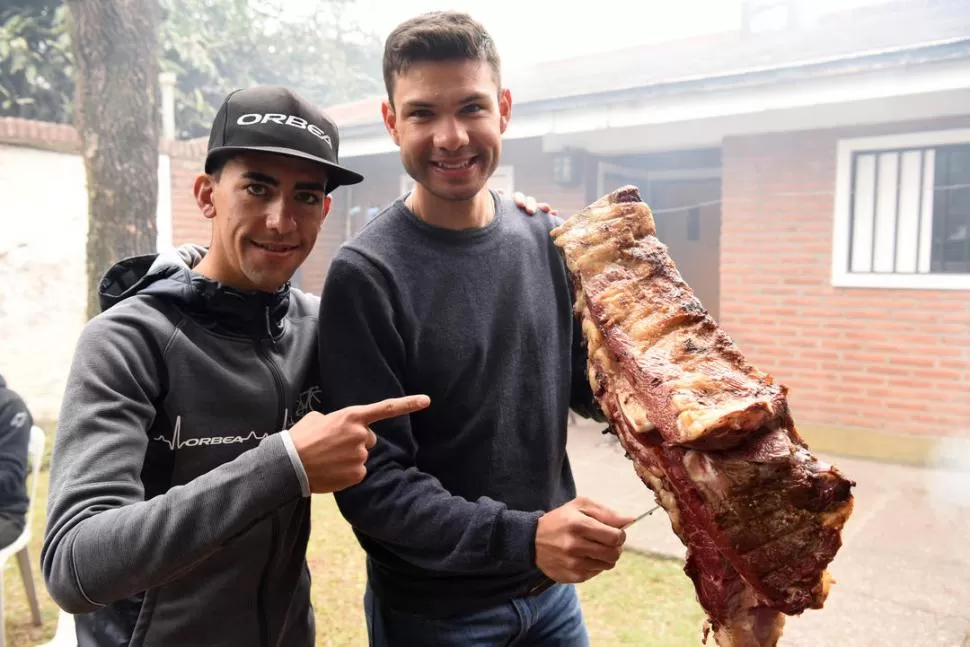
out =
<svg viewBox="0 0 970 647"><path fill-rule="evenodd" d="M89 612L160 586L302 496L279 434L186 485L145 500L152 343L111 319L88 324L68 376L51 461L41 567L51 596ZM152 359L150 359L152 358Z"/></svg>

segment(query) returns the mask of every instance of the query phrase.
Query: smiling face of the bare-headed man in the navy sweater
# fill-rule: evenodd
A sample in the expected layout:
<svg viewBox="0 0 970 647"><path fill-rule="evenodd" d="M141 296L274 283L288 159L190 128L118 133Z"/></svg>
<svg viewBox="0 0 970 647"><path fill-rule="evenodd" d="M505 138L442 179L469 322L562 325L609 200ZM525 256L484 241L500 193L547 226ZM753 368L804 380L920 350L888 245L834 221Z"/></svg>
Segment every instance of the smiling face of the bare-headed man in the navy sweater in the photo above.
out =
<svg viewBox="0 0 970 647"><path fill-rule="evenodd" d="M480 60L423 61L394 77L384 123L408 175L443 201L468 201L498 166L512 99Z"/></svg>

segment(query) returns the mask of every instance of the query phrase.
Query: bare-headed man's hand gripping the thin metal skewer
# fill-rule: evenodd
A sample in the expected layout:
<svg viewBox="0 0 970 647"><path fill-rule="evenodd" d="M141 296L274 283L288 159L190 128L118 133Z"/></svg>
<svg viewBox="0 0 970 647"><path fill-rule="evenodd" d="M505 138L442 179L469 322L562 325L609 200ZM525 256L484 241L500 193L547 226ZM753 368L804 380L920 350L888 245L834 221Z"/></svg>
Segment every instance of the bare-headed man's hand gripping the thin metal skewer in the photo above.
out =
<svg viewBox="0 0 970 647"><path fill-rule="evenodd" d="M635 517L624 517L584 497L539 517L536 566L556 582L575 584L608 571L620 559Z"/></svg>

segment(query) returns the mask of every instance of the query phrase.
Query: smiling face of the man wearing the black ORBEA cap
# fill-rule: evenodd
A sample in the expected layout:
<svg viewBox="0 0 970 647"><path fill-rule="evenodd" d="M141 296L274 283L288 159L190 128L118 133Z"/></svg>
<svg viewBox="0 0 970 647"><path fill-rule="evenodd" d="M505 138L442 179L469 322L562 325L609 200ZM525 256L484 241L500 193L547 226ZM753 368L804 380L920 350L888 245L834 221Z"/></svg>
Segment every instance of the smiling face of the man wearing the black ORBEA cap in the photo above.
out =
<svg viewBox="0 0 970 647"><path fill-rule="evenodd" d="M247 153L195 182L212 244L196 268L240 290L274 292L306 260L330 211L326 169L283 155Z"/></svg>

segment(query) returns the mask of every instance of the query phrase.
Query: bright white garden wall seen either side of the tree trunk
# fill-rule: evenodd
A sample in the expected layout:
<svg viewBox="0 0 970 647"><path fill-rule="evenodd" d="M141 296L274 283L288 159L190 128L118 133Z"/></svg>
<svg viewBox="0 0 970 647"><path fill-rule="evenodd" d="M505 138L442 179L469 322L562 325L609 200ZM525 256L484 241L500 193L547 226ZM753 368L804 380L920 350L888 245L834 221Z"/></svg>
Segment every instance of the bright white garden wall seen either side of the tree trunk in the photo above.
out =
<svg viewBox="0 0 970 647"><path fill-rule="evenodd" d="M159 160L159 246L171 244ZM0 374L37 419L55 418L87 303L87 188L78 155L0 144Z"/></svg>

